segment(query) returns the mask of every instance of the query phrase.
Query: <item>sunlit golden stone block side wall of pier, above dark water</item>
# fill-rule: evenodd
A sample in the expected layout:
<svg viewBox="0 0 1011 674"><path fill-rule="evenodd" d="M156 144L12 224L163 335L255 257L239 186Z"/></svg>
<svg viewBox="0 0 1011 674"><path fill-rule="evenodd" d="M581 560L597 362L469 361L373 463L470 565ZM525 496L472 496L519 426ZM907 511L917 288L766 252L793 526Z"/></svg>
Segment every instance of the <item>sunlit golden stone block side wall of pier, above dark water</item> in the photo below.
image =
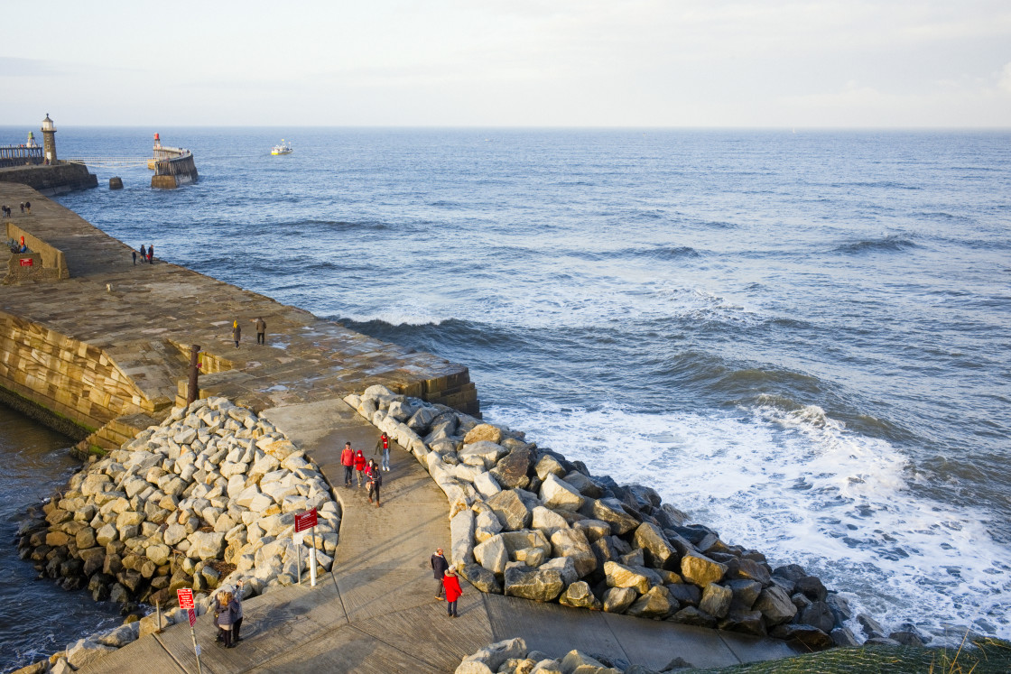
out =
<svg viewBox="0 0 1011 674"><path fill-rule="evenodd" d="M0 387L89 430L155 410L103 350L2 311Z"/></svg>

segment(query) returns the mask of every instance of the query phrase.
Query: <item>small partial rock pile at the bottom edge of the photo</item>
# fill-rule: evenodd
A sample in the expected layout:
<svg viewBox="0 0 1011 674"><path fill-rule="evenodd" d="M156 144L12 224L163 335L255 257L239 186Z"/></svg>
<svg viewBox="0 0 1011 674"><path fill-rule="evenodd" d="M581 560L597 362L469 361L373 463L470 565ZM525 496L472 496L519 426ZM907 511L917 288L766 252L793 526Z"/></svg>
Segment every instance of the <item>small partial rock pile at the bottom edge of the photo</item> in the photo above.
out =
<svg viewBox="0 0 1011 674"><path fill-rule="evenodd" d="M564 658L552 658L540 651L527 651L523 639L509 639L481 649L463 659L455 674L666 674L691 669L674 658L656 672L642 665L612 662L605 656L569 651Z"/></svg>

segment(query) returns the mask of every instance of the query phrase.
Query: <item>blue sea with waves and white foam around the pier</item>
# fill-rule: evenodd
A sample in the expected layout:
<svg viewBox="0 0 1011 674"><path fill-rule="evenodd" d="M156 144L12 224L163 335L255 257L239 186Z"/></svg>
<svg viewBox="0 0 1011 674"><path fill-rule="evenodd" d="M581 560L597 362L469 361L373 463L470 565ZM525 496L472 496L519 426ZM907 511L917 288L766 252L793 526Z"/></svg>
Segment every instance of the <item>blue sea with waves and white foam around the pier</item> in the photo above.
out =
<svg viewBox="0 0 1011 674"><path fill-rule="evenodd" d="M61 124L58 152L144 158L156 131L196 184L94 168L58 201L467 366L485 419L888 630L1011 638L1011 132ZM4 432L8 465L65 478ZM5 525L33 495L0 475ZM78 605L45 586L0 604Z"/></svg>

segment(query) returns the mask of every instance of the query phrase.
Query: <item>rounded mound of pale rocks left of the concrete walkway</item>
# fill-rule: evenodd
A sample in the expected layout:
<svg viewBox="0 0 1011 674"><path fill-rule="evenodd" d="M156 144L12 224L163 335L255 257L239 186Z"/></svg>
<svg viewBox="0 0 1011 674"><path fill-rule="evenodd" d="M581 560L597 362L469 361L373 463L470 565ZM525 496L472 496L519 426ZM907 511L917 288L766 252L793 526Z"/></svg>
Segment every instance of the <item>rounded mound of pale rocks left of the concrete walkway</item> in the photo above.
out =
<svg viewBox="0 0 1011 674"><path fill-rule="evenodd" d="M193 588L250 596L296 581L294 514L315 507L319 572L333 563L341 510L319 470L270 421L225 398L176 408L75 474L20 528L22 559L95 600L171 606Z"/></svg>

